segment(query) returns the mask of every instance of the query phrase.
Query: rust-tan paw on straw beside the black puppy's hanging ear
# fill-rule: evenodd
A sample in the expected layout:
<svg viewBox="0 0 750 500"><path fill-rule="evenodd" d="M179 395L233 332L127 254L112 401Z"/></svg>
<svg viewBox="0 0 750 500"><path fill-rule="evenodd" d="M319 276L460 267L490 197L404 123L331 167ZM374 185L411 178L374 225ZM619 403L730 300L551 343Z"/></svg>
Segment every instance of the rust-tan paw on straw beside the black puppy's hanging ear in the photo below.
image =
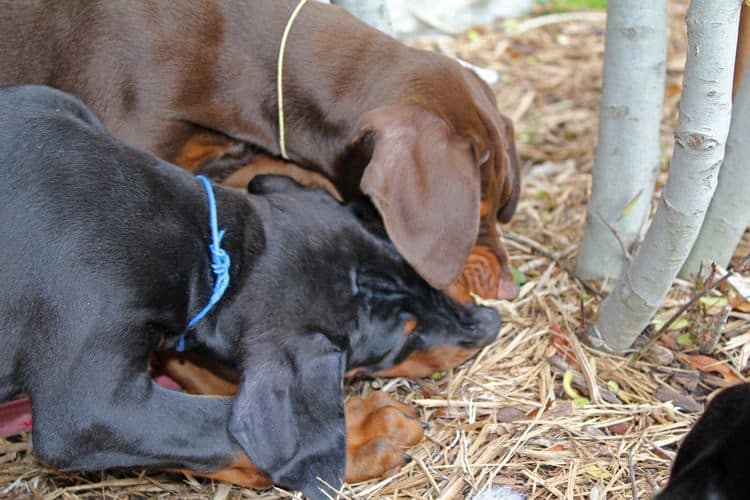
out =
<svg viewBox="0 0 750 500"><path fill-rule="evenodd" d="M346 482L389 475L411 461L405 449L419 443L425 425L414 408L383 391L347 401Z"/></svg>

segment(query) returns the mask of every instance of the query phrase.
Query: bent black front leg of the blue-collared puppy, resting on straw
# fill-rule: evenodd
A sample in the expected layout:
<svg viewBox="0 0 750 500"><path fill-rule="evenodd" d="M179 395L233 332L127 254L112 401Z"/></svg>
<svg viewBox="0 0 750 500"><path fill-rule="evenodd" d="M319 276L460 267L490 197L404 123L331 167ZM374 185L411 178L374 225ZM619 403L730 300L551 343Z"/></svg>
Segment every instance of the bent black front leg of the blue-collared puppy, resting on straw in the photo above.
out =
<svg viewBox="0 0 750 500"><path fill-rule="evenodd" d="M62 469L177 468L246 487L269 485L227 431L231 399L169 391L145 371L122 382L116 372L101 366L85 380L78 374L81 383L64 391L34 388L40 459Z"/></svg>

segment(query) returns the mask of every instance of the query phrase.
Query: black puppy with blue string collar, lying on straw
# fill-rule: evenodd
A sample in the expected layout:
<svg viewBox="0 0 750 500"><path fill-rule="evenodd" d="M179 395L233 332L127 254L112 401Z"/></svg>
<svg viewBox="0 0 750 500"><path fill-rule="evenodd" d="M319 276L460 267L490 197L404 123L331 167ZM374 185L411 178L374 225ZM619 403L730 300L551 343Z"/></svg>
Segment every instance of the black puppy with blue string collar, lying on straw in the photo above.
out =
<svg viewBox="0 0 750 500"><path fill-rule="evenodd" d="M204 187L67 94L0 89L0 401L29 394L35 452L57 467L215 471L244 451L245 470L319 497L317 478L344 474L344 372L448 338L484 346L499 317L429 287L322 191L276 177L249 197L214 190L230 284L185 340L240 371L232 399L148 373L214 286Z"/></svg>

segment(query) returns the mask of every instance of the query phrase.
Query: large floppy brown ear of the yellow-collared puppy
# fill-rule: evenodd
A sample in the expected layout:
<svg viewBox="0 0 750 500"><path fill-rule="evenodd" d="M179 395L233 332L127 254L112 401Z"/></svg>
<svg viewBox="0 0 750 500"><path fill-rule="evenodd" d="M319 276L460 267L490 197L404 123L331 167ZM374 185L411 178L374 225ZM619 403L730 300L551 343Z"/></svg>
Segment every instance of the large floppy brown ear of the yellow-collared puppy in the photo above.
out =
<svg viewBox="0 0 750 500"><path fill-rule="evenodd" d="M354 134L372 156L360 183L393 244L432 286L461 271L479 231L480 176L471 144L412 105L365 113Z"/></svg>

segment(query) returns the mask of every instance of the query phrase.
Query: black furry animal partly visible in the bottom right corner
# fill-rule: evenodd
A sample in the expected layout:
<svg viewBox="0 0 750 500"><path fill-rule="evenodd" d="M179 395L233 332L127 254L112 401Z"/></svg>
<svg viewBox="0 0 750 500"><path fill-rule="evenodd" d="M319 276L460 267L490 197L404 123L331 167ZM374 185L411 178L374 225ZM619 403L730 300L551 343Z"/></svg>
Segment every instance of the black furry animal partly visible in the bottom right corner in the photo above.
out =
<svg viewBox="0 0 750 500"><path fill-rule="evenodd" d="M658 500L750 498L750 384L717 394L685 438Z"/></svg>

